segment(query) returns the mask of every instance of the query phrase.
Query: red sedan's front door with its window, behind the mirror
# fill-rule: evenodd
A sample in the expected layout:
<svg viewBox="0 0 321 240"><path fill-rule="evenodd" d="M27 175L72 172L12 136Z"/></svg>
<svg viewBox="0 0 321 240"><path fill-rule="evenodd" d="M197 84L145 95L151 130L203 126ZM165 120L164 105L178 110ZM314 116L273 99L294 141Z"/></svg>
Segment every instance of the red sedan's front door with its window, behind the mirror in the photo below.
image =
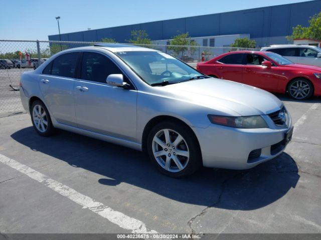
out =
<svg viewBox="0 0 321 240"><path fill-rule="evenodd" d="M279 74L277 66L272 63L271 67L263 66L267 60L260 54L246 54L244 65L243 82L268 91L275 91L278 86Z"/></svg>

